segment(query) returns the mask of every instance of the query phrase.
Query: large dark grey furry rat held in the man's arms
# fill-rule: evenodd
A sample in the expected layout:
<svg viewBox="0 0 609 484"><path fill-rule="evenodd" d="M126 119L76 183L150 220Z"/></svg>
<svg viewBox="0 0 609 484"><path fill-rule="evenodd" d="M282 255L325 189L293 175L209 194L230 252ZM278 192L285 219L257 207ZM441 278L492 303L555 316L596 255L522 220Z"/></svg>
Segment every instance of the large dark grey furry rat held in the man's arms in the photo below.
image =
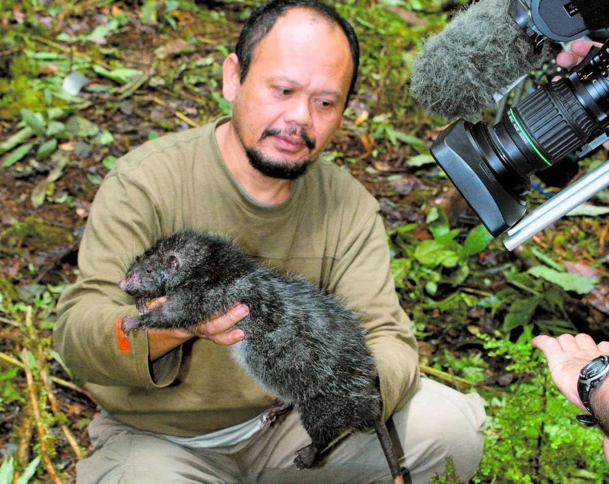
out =
<svg viewBox="0 0 609 484"><path fill-rule="evenodd" d="M139 316L122 329L191 328L244 303L250 314L235 325L245 337L231 345L236 362L279 404L267 421L295 407L312 443L297 451L310 467L345 430L374 428L394 483L400 466L381 418L378 374L357 313L303 278L263 268L231 241L184 230L157 240L136 257L119 287ZM150 311L146 301L166 297Z"/></svg>

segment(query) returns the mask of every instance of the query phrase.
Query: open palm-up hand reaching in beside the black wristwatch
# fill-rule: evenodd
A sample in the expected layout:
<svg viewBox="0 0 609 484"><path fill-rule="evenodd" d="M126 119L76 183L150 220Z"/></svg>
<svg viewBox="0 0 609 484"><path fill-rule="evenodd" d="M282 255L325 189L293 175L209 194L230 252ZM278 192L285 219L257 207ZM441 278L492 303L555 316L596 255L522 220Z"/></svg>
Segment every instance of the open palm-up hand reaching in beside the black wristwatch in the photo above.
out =
<svg viewBox="0 0 609 484"><path fill-rule="evenodd" d="M563 395L574 405L586 410L577 395L577 377L591 359L609 354L609 342L596 344L588 334L561 334L557 338L537 336L532 344L546 355L552 380Z"/></svg>

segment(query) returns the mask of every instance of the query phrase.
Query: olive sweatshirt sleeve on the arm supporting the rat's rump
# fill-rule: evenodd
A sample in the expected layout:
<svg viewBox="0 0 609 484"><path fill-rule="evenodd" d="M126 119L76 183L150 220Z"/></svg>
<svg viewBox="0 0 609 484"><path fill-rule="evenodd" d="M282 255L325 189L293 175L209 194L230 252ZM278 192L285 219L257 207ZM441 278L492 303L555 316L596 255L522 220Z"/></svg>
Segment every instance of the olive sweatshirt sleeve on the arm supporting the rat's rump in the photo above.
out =
<svg viewBox="0 0 609 484"><path fill-rule="evenodd" d="M395 292L381 216L376 212L363 225L353 221L343 226L348 227L347 233L341 237L328 291L339 294L362 314L379 373L383 418L387 420L417 389L417 342Z"/></svg>

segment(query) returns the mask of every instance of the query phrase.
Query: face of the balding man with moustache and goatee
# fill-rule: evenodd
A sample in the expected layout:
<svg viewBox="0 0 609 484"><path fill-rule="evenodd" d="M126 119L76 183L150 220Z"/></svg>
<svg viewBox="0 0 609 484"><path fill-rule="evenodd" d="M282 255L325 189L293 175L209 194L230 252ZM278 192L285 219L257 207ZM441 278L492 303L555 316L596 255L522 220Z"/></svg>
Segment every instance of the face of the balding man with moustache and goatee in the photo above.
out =
<svg viewBox="0 0 609 484"><path fill-rule="evenodd" d="M352 72L339 26L301 8L278 18L234 89L233 123L253 167L273 178L304 173L342 121Z"/></svg>

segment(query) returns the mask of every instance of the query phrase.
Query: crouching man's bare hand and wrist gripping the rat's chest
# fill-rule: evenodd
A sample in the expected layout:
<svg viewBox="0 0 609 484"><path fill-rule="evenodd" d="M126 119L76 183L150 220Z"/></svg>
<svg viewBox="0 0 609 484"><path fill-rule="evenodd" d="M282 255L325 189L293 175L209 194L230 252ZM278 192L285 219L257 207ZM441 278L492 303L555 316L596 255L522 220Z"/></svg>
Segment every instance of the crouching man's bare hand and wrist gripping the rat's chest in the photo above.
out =
<svg viewBox="0 0 609 484"><path fill-rule="evenodd" d="M160 297L150 303L149 308L152 309L166 300L166 298ZM246 305L238 304L229 309L227 313L201 321L192 328L148 330L150 361L161 358L163 354L173 350L194 336L208 339L217 345L235 344L244 339L245 333L242 330L231 330L231 328L247 316L249 312L250 310Z"/></svg>

